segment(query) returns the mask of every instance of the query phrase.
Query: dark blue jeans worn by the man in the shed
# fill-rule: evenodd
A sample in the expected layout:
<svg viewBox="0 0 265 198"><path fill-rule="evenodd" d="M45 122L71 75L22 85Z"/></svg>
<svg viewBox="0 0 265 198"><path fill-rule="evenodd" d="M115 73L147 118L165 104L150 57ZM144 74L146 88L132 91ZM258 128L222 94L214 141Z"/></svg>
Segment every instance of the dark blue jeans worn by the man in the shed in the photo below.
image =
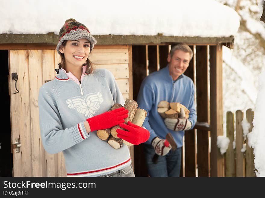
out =
<svg viewBox="0 0 265 198"><path fill-rule="evenodd" d="M182 148L175 151L172 149L165 156L159 156L157 164L152 162L154 157L154 147L151 144L144 144L145 160L150 177L179 177Z"/></svg>

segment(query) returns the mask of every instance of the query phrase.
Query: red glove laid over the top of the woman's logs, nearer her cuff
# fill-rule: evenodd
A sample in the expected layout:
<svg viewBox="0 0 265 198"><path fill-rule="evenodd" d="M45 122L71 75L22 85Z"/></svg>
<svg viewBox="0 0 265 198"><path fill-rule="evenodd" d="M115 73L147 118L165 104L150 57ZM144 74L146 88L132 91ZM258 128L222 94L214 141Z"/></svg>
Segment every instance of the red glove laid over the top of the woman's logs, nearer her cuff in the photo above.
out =
<svg viewBox="0 0 265 198"><path fill-rule="evenodd" d="M88 121L91 131L108 129L123 123L125 118L128 118L128 110L124 107L114 109L109 112L102 113L100 115L93 116L86 119Z"/></svg>

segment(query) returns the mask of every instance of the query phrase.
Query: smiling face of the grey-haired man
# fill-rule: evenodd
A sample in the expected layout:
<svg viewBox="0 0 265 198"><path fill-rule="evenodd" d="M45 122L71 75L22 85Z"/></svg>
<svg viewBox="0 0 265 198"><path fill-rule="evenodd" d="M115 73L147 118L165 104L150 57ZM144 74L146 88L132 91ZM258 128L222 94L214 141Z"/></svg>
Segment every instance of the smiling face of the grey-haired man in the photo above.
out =
<svg viewBox="0 0 265 198"><path fill-rule="evenodd" d="M171 57L167 56L169 74L173 80L176 80L189 67L190 55L189 52L176 50Z"/></svg>

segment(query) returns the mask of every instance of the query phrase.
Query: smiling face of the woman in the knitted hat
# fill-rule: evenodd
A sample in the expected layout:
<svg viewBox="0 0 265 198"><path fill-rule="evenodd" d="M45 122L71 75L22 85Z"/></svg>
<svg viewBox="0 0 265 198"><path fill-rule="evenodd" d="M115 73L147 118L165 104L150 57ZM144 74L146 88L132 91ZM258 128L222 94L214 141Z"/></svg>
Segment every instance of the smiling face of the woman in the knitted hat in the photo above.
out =
<svg viewBox="0 0 265 198"><path fill-rule="evenodd" d="M64 54L65 69L82 66L90 53L90 43L88 39L69 40L65 46L61 46L59 51Z"/></svg>

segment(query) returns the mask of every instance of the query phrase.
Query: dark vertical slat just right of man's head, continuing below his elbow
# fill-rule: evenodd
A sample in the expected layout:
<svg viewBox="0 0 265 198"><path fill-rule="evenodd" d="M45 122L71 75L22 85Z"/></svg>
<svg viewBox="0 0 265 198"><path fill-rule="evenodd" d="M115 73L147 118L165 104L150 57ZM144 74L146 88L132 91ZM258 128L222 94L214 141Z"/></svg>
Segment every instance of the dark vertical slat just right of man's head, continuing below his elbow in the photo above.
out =
<svg viewBox="0 0 265 198"><path fill-rule="evenodd" d="M193 46L190 46L193 50ZM194 51L194 50L193 50ZM189 67L184 73L195 82L195 57L189 63ZM185 131L185 177L196 177L196 133L195 129Z"/></svg>

